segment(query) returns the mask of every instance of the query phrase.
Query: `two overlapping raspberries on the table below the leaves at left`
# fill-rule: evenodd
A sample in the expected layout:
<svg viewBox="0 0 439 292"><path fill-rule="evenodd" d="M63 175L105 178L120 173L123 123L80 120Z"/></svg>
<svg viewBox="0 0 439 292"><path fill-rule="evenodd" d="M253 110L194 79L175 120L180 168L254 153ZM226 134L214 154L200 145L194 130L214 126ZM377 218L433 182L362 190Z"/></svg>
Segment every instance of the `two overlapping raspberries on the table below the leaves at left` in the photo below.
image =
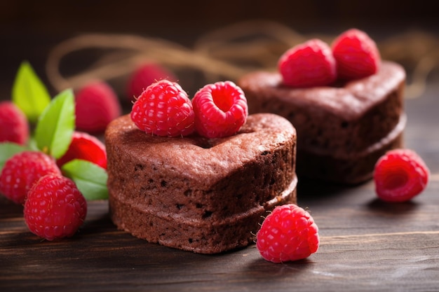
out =
<svg viewBox="0 0 439 292"><path fill-rule="evenodd" d="M0 193L24 204L27 227L48 240L71 237L86 218L87 202L76 184L40 151L22 151L6 160Z"/></svg>

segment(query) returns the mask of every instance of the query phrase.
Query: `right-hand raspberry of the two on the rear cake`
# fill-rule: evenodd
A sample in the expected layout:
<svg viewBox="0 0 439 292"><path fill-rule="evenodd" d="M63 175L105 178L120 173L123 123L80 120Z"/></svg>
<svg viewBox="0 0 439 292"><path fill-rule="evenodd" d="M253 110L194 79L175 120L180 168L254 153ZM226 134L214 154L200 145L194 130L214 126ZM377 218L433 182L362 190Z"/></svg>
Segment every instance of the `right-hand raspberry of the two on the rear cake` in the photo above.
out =
<svg viewBox="0 0 439 292"><path fill-rule="evenodd" d="M377 73L381 58L377 44L358 29L349 29L332 42L340 79L351 80Z"/></svg>

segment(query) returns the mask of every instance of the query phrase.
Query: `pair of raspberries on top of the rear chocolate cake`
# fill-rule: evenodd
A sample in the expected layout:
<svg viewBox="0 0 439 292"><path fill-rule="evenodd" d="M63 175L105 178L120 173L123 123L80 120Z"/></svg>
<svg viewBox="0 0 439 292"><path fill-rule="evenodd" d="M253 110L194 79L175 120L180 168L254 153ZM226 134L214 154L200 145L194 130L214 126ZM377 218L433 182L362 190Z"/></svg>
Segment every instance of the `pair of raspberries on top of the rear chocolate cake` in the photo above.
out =
<svg viewBox="0 0 439 292"><path fill-rule="evenodd" d="M331 85L377 73L381 57L376 43L365 32L349 29L331 46L311 39L287 50L278 61L283 83L295 88Z"/></svg>

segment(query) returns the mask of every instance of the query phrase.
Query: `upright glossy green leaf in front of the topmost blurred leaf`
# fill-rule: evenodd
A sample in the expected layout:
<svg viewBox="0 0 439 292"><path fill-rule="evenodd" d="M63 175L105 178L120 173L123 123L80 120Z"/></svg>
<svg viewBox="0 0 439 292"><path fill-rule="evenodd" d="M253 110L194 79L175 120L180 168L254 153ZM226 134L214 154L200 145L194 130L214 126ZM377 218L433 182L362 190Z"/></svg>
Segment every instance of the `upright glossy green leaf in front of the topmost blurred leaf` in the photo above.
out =
<svg viewBox="0 0 439 292"><path fill-rule="evenodd" d="M36 124L36 146L58 159L67 151L75 127L74 95L71 89L60 92L41 113Z"/></svg>

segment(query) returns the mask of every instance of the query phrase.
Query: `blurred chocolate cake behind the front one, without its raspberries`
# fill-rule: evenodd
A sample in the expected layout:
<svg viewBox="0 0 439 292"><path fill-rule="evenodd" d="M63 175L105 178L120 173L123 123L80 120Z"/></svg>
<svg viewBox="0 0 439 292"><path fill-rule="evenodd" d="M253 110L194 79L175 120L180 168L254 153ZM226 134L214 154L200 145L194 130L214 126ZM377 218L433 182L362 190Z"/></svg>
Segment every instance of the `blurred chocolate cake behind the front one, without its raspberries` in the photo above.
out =
<svg viewBox="0 0 439 292"><path fill-rule="evenodd" d="M372 178L377 159L403 144L405 70L383 61L372 76L335 86L288 88L278 72L238 81L249 113L276 113L297 130L297 175L357 184Z"/></svg>

